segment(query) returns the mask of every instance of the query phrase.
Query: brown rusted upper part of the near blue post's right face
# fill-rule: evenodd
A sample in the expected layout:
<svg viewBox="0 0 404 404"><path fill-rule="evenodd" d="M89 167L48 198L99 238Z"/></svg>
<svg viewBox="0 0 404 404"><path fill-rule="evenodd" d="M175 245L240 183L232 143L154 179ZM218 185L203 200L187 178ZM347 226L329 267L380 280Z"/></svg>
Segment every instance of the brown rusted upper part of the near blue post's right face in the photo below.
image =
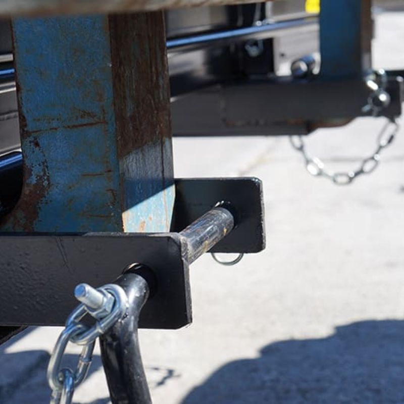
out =
<svg viewBox="0 0 404 404"><path fill-rule="evenodd" d="M118 155L122 158L171 136L163 13L113 15L109 27Z"/></svg>

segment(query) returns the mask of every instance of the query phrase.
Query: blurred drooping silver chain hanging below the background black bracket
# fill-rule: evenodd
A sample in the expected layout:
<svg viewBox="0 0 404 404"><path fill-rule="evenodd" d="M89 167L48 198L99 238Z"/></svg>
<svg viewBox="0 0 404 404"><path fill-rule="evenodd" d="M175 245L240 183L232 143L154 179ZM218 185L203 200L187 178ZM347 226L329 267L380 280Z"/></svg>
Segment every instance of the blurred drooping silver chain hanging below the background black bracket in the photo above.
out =
<svg viewBox="0 0 404 404"><path fill-rule="evenodd" d="M391 132L387 132L387 129L390 125L393 125L393 130ZM389 121L384 125L382 130L377 137L376 142L376 150L372 154L372 156L362 160L359 169L356 171L347 171L347 172L330 172L322 160L318 157L312 157L307 149L306 144L304 143L303 137L300 135L289 136L289 140L293 148L300 151L302 156L306 162L306 169L309 173L315 177L325 177L330 179L334 184L337 185L348 185L352 181L354 181L357 177L363 174L370 174L375 170L380 162L380 153L381 151L390 145L398 131L398 123L394 118L389 119Z"/></svg>

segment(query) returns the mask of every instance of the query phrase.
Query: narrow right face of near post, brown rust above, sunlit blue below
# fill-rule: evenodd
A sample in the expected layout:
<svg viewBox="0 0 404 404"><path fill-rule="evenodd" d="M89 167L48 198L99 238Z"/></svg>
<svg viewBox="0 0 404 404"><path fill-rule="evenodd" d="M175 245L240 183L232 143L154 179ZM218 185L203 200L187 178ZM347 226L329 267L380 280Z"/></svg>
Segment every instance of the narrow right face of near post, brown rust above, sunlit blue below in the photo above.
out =
<svg viewBox="0 0 404 404"><path fill-rule="evenodd" d="M124 229L167 231L174 182L164 16L112 15L109 29Z"/></svg>

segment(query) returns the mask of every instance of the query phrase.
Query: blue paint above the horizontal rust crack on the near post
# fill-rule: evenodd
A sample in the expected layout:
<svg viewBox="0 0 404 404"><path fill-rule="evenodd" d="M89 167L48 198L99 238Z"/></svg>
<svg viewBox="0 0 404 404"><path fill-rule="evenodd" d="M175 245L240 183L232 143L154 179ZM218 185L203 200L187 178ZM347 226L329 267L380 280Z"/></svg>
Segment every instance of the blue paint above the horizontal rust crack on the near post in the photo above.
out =
<svg viewBox="0 0 404 404"><path fill-rule="evenodd" d="M104 24L103 16L14 21L17 77L29 131L106 121L114 132Z"/></svg>

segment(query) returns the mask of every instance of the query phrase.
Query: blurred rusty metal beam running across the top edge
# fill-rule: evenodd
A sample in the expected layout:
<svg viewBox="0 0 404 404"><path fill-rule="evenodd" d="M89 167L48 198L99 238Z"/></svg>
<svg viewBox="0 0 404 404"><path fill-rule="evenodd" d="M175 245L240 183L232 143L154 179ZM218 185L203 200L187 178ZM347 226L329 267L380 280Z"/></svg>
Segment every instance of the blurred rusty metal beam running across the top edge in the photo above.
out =
<svg viewBox="0 0 404 404"><path fill-rule="evenodd" d="M264 0L258 0L261 1ZM257 0L0 0L0 14L48 16L122 13L248 3L257 3Z"/></svg>

